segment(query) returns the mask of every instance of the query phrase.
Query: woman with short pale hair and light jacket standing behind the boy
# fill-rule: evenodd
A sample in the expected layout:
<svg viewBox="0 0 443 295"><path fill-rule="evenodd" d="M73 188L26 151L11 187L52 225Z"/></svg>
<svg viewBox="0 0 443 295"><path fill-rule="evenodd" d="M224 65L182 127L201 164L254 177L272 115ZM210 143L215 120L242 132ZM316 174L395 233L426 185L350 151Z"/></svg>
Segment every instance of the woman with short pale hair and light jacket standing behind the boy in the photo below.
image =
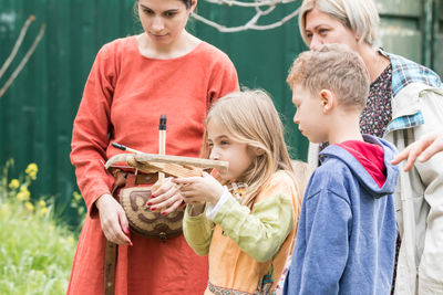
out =
<svg viewBox="0 0 443 295"><path fill-rule="evenodd" d="M373 0L305 0L299 28L310 49L344 43L363 59L371 78L360 126L398 149L443 125L443 91L431 70L378 49L379 14ZM318 149L310 146L310 162ZM394 194L402 240L396 294L442 294L443 156L416 162L400 176ZM373 270L377 272L377 270ZM362 278L363 280L363 278Z"/></svg>

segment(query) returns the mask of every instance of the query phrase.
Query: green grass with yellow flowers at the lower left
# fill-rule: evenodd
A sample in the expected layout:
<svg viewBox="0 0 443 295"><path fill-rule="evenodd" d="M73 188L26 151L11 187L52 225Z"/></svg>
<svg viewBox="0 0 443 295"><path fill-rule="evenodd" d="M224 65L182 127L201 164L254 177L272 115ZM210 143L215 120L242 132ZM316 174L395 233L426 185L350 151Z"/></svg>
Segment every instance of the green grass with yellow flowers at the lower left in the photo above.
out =
<svg viewBox="0 0 443 295"><path fill-rule="evenodd" d="M53 198L31 199L37 165L9 180L12 165L0 171L0 294L65 294L75 234L54 218Z"/></svg>

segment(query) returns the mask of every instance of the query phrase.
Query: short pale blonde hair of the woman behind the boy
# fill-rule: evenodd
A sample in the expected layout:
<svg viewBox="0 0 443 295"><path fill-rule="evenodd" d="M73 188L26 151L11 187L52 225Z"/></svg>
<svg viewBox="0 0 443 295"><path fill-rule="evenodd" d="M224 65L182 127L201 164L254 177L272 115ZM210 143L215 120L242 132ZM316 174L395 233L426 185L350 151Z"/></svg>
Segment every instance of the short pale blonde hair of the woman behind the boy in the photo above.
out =
<svg viewBox="0 0 443 295"><path fill-rule="evenodd" d="M340 21L360 36L359 42L374 45L380 17L373 0L305 0L300 6L298 22L306 44L309 44L306 14L313 9Z"/></svg>

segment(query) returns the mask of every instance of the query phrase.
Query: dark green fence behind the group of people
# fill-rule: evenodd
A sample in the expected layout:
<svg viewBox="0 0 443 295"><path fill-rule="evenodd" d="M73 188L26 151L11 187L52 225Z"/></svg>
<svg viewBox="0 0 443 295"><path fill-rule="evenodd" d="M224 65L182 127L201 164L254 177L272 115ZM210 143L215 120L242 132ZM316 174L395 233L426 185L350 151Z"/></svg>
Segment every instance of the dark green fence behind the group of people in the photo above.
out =
<svg viewBox="0 0 443 295"><path fill-rule="evenodd" d="M443 72L441 0L378 1L382 13L382 45ZM70 164L72 123L84 83L99 49L113 39L142 31L133 13L133 0L0 0L0 65L9 55L25 19L33 14L18 56L0 80L4 84L31 45L40 25L45 35L35 53L0 98L0 166L14 158L19 175L29 162L39 165L32 186L37 196L51 194L59 209L70 203L76 190ZM293 11L299 2L280 6L264 22L274 22ZM244 24L254 10L220 7L203 0L198 13L228 25ZM306 46L297 19L269 31L220 33L190 21L198 38L225 51L235 63L240 83L269 92L284 119L293 158L305 159L307 140L292 123L295 108L285 80L291 61ZM69 219L71 211L66 211Z"/></svg>

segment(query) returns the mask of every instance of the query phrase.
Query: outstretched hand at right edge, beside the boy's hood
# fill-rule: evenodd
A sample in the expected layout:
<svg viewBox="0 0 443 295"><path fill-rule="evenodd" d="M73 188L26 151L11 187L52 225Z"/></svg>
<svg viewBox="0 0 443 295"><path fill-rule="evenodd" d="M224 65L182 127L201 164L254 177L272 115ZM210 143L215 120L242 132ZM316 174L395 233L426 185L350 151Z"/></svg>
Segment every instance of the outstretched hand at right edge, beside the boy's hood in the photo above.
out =
<svg viewBox="0 0 443 295"><path fill-rule="evenodd" d="M424 162L427 161L436 152L443 150L443 130L434 131L424 135L415 143L409 145L403 151L401 151L391 161L391 164L396 165L402 160L406 160L404 166L404 171L409 171L415 162L415 159Z"/></svg>

